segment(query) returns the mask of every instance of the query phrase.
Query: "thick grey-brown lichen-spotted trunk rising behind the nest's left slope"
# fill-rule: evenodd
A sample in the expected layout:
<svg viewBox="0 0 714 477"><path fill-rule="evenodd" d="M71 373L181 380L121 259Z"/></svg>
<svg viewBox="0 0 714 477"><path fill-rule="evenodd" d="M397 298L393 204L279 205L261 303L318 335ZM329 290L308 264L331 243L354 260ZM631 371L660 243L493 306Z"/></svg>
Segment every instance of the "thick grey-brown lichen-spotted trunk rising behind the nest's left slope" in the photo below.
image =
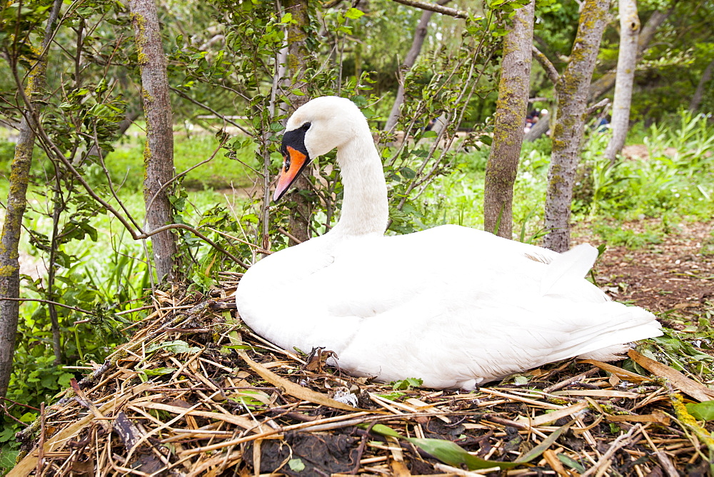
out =
<svg viewBox="0 0 714 477"><path fill-rule="evenodd" d="M174 178L174 122L156 3L154 0L130 0L129 11L141 69L141 97L146 118L144 201L146 232L149 232L171 224L174 219L174 209L166 190L166 184ZM159 281L178 279L176 236L171 231L151 236L151 248Z"/></svg>

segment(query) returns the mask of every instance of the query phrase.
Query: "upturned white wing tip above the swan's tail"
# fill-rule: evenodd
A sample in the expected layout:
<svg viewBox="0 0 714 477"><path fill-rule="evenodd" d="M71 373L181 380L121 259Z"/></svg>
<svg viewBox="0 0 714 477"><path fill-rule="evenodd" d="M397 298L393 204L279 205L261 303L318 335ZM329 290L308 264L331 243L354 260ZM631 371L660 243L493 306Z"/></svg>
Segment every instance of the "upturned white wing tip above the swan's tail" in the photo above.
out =
<svg viewBox="0 0 714 477"><path fill-rule="evenodd" d="M596 258L598 249L587 243L560 253L548 263L548 270L540 281L540 294L558 294L561 288L570 288L573 282L581 281L590 268L593 268Z"/></svg>

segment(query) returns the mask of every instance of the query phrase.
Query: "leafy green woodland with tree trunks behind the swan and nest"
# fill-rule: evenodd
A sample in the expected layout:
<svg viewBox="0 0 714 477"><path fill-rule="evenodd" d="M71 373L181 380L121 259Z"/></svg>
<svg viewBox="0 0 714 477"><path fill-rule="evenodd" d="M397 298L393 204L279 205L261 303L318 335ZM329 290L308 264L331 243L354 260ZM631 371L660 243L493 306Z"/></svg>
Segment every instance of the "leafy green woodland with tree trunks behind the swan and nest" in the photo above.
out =
<svg viewBox="0 0 714 477"><path fill-rule="evenodd" d="M713 14L706 0L6 2L0 468L152 289L206 293L335 223L333 155L267 200L283 121L312 97L368 117L393 234L454 223L563 250L587 224L604 251L710 227Z"/></svg>

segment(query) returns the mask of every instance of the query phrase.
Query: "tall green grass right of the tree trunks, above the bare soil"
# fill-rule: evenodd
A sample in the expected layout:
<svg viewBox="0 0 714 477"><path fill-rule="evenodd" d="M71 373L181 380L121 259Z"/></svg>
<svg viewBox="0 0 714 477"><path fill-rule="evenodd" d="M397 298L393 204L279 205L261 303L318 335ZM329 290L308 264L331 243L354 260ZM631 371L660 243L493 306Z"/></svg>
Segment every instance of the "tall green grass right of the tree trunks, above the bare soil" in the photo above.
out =
<svg viewBox="0 0 714 477"><path fill-rule="evenodd" d="M678 123L650 126L644 138L649 156L620 159L614 166L602 155L608 136L592 134L583 151L575 213L708 219L714 206L714 131L705 117L687 111Z"/></svg>

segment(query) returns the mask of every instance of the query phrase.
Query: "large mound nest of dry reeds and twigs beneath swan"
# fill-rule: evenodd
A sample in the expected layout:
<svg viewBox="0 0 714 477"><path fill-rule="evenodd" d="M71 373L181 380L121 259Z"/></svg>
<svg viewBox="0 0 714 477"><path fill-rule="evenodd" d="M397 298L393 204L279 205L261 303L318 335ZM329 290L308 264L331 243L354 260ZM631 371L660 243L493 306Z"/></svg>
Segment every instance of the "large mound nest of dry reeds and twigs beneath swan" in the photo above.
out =
<svg viewBox="0 0 714 477"><path fill-rule="evenodd" d="M469 393L371 383L251 333L224 276L210 298L157 291L131 341L19 433L9 476L709 471L685 403L711 391L636 351L654 376L568 361Z"/></svg>

